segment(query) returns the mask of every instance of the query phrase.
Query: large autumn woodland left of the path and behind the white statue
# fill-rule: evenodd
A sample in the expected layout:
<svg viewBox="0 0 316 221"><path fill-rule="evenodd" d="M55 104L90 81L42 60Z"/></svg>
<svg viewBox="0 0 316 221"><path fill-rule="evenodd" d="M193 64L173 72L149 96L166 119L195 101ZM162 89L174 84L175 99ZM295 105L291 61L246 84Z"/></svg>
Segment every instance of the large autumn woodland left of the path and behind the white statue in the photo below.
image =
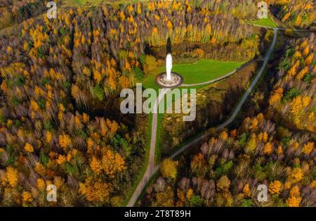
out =
<svg viewBox="0 0 316 221"><path fill-rule="evenodd" d="M53 206L48 184L58 206L124 205L143 166L147 118L122 115L119 91L157 67L152 49L170 37L197 44L187 53L231 44L249 51L239 60L258 54L250 25L188 2L61 8L53 20L37 16L37 1L22 3L2 2L29 10L0 38L3 206Z"/></svg>

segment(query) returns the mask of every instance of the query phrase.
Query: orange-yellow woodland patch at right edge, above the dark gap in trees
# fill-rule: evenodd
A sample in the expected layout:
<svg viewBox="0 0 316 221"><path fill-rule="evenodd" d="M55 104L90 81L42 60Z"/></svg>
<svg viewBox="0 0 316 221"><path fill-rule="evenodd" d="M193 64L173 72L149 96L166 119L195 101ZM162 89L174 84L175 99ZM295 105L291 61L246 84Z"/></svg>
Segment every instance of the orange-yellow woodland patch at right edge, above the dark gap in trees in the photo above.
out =
<svg viewBox="0 0 316 221"><path fill-rule="evenodd" d="M296 40L279 64L279 78L270 96L271 114L291 128L316 132L315 34Z"/></svg>

